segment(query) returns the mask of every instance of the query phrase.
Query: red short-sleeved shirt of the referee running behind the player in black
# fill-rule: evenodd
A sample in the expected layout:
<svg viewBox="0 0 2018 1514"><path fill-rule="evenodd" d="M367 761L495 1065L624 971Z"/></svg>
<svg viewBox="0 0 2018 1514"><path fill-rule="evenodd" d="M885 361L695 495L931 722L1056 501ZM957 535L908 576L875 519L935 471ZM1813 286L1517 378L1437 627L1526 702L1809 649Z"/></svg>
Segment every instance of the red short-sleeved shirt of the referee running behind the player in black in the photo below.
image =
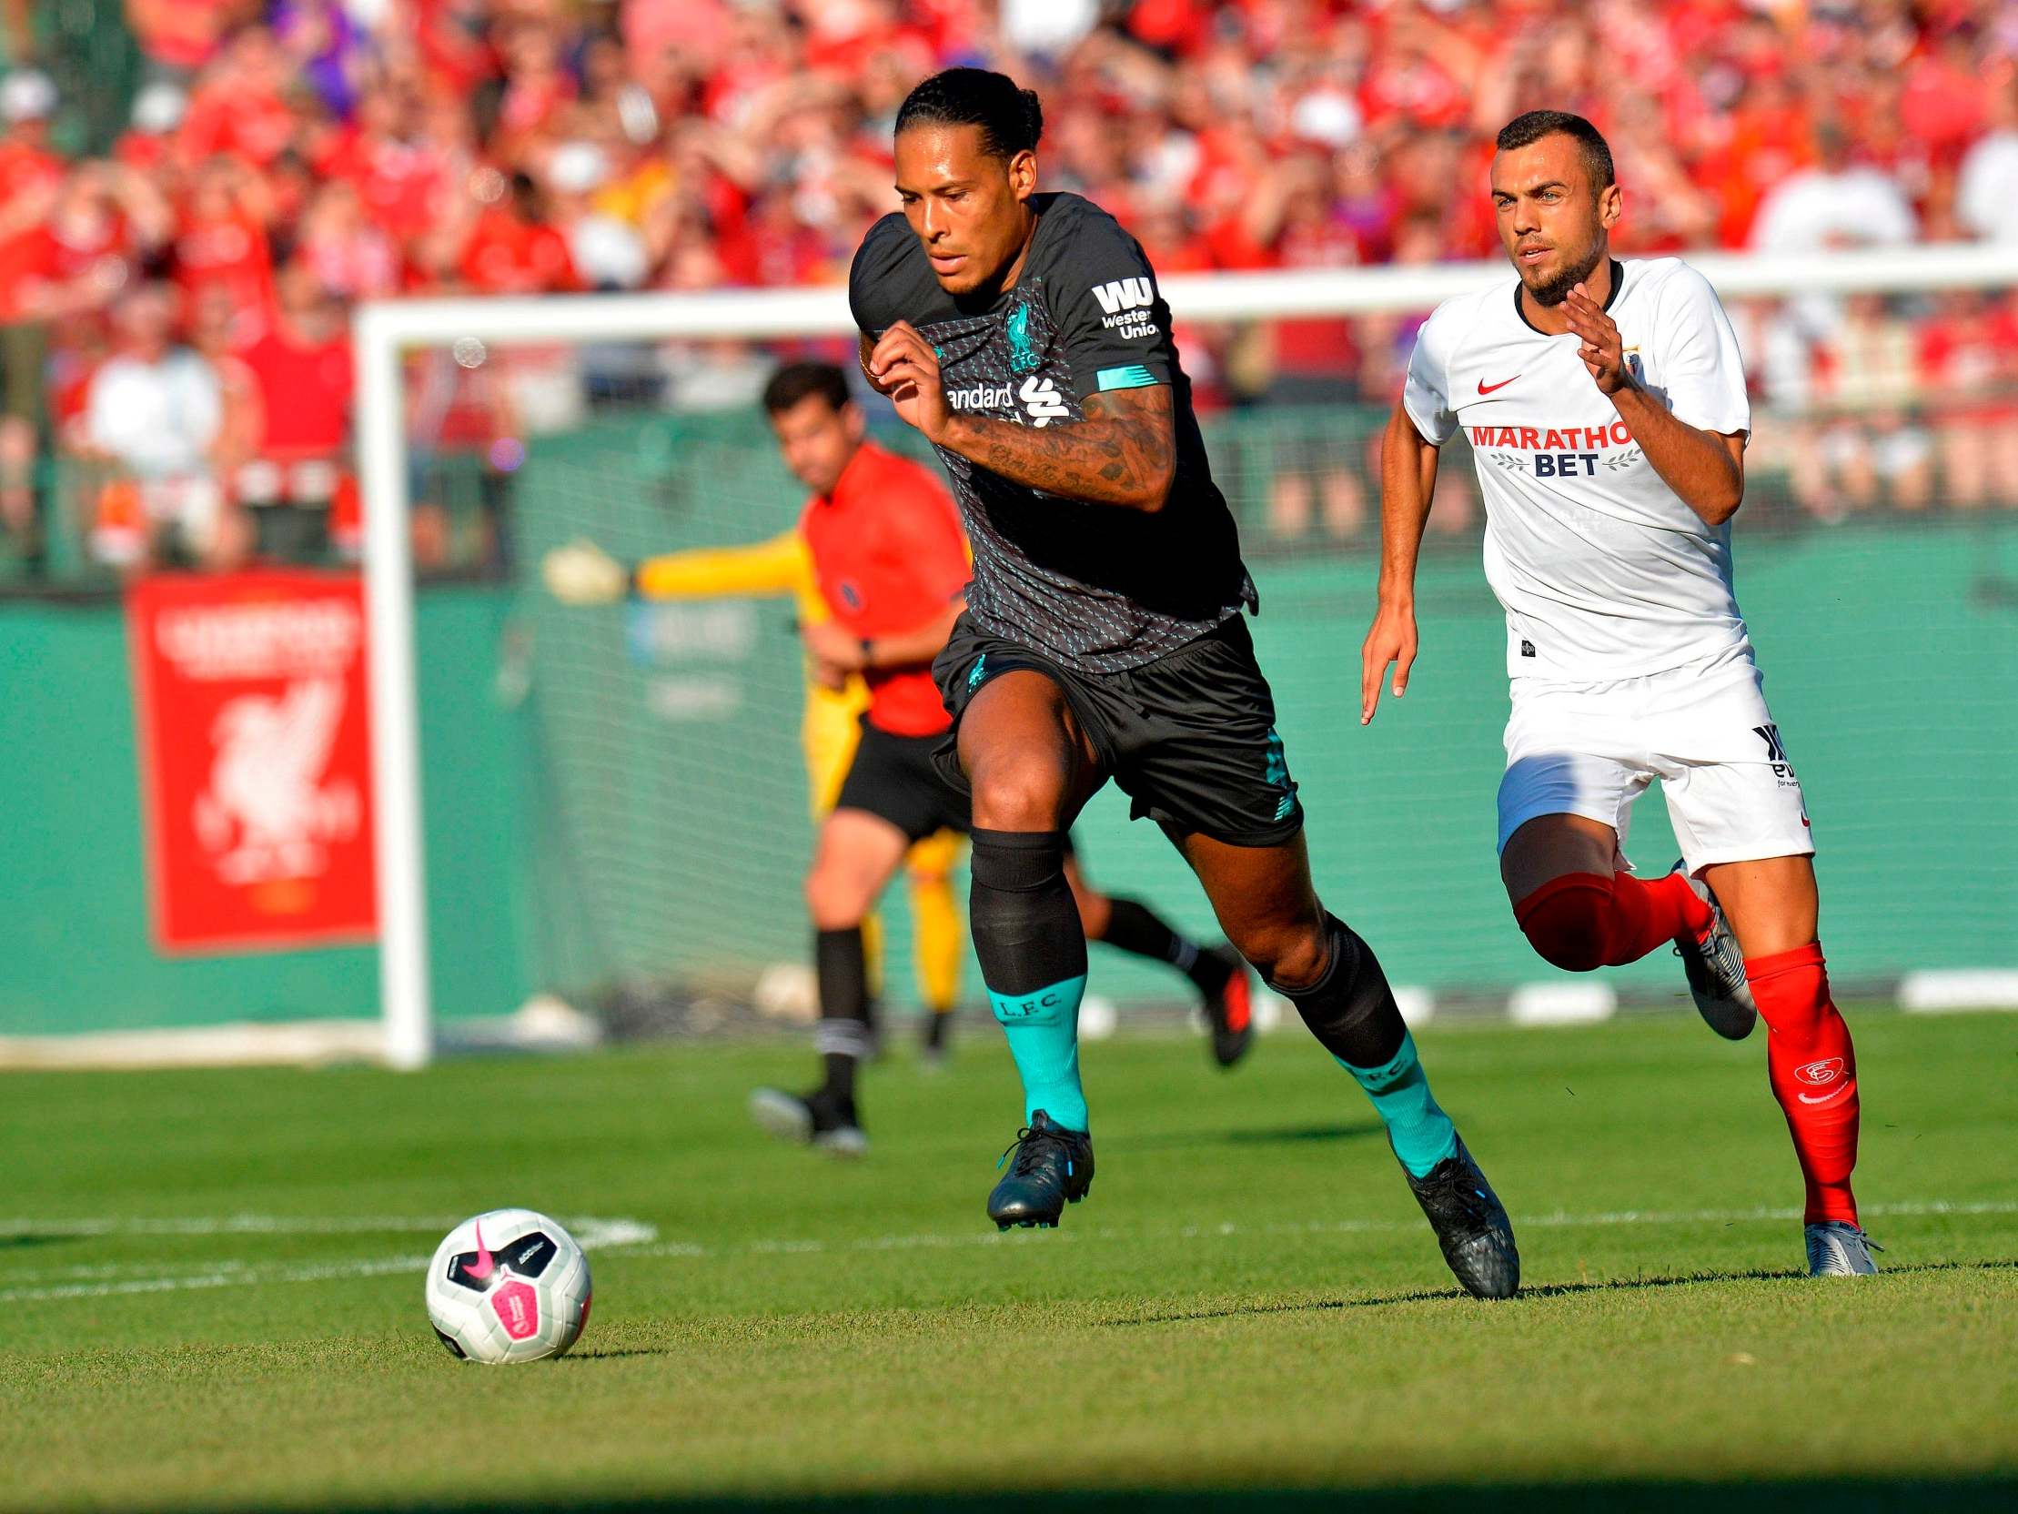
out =
<svg viewBox="0 0 2018 1514"><path fill-rule="evenodd" d="M866 636L914 632L967 587L967 533L938 474L864 442L831 495L799 521L819 598L835 624ZM952 721L924 666L872 668L870 725L896 737L936 737Z"/></svg>

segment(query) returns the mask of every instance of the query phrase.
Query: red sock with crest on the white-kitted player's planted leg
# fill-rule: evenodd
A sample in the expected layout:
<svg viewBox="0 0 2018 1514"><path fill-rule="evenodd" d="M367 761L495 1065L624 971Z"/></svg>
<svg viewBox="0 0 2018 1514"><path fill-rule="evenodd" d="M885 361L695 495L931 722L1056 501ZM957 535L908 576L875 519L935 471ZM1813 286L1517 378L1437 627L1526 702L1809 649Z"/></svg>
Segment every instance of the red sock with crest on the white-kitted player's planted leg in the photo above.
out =
<svg viewBox="0 0 2018 1514"><path fill-rule="evenodd" d="M1786 1110L1794 1157L1808 1185L1806 1223L1857 1223L1857 1050L1828 997L1820 943L1746 961L1746 981L1766 1021L1766 1072Z"/></svg>

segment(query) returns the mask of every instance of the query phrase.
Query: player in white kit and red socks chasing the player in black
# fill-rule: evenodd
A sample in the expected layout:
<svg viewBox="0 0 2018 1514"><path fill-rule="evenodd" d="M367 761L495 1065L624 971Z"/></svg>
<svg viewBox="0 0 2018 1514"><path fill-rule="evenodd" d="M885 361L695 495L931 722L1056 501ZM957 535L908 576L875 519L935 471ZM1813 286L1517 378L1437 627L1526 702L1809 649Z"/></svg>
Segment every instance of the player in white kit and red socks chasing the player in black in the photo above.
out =
<svg viewBox="0 0 2018 1514"><path fill-rule="evenodd" d="M1806 1181L1810 1274L1875 1272L1857 1223L1857 1056L1816 941L1814 840L1731 593L1752 412L1731 325L1677 258L1620 262L1596 127L1530 111L1491 168L1518 279L1417 335L1382 452L1380 606L1360 723L1417 656L1415 563L1437 448L1465 430L1485 577L1507 614L1499 874L1534 949L1570 971L1671 941L1703 1017L1768 1030ZM1661 779L1683 860L1635 878L1633 801Z"/></svg>

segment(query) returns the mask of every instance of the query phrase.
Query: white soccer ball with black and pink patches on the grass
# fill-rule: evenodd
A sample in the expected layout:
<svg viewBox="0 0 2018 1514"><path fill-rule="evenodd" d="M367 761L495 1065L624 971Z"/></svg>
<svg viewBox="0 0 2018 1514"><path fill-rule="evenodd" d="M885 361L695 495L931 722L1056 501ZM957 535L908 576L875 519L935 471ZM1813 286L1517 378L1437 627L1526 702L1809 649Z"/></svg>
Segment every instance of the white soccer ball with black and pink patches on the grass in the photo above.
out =
<svg viewBox="0 0 2018 1514"><path fill-rule="evenodd" d="M589 1258L531 1209L474 1215L428 1264L428 1318L458 1361L559 1357L589 1322Z"/></svg>

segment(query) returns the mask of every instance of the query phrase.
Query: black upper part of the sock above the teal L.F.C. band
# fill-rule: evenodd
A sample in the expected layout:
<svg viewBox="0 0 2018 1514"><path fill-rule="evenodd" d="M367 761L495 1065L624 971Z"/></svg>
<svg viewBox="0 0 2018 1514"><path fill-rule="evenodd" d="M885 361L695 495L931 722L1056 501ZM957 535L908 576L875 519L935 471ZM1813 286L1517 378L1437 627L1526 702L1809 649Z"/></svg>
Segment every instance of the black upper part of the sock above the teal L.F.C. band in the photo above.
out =
<svg viewBox="0 0 2018 1514"><path fill-rule="evenodd" d="M1066 834L977 830L967 900L991 995L1086 975L1086 931L1066 882Z"/></svg>

